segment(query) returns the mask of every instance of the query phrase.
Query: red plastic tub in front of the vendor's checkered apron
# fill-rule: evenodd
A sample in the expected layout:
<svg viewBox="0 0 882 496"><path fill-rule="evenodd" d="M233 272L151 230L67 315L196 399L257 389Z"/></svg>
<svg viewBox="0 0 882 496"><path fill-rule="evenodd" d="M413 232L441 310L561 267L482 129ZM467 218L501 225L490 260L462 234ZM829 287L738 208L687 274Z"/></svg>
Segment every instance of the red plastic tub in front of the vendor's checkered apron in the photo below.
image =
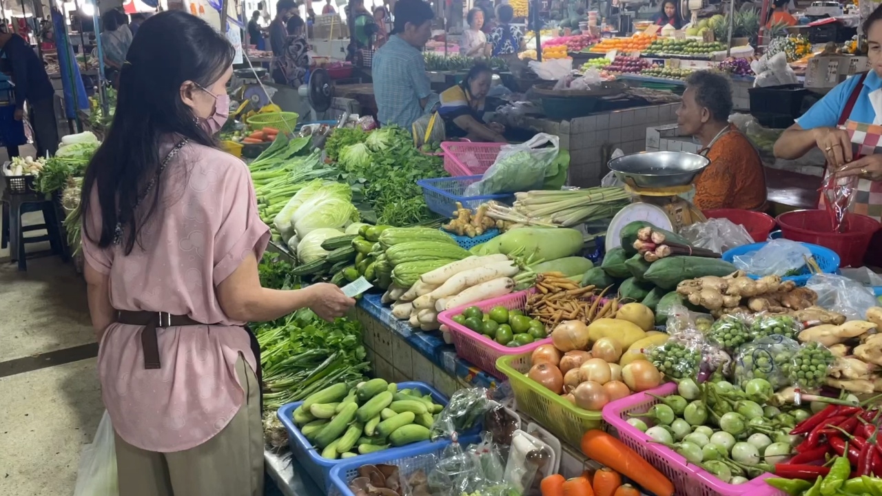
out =
<svg viewBox="0 0 882 496"><path fill-rule="evenodd" d="M879 229L875 219L848 214L845 232L833 232L833 223L825 210L795 210L778 215L783 237L804 243L820 244L839 255L840 267L861 267L870 240Z"/></svg>

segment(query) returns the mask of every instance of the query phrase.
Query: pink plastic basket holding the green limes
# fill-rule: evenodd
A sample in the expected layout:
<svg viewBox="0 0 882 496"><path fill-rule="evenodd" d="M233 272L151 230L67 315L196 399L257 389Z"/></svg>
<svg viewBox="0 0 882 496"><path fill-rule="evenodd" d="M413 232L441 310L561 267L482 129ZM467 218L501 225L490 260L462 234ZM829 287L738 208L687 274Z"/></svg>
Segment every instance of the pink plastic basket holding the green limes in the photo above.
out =
<svg viewBox="0 0 882 496"><path fill-rule="evenodd" d="M505 355L520 355L522 353L530 353L540 345L551 342L551 338L541 339L524 346L510 348L505 344L499 344L484 334L476 333L465 326L460 326L452 320L454 315L459 315L469 306L477 306L482 312L489 312L494 306L502 305L509 310L523 310L527 306L527 297L533 294L534 289L518 291L505 295L504 297L495 297L486 301L471 303L445 310L438 314L438 322L450 328L450 334L453 339L453 347L456 348L456 354L465 358L467 361L475 364L482 371L491 375L505 379L505 374L499 372L496 366L497 358Z"/></svg>

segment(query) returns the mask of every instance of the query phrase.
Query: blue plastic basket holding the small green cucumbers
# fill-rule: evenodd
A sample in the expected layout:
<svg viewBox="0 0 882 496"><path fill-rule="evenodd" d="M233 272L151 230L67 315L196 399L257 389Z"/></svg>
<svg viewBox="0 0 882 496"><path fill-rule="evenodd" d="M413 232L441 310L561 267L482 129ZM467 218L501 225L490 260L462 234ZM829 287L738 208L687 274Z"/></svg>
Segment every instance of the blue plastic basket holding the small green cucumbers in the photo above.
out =
<svg viewBox="0 0 882 496"><path fill-rule="evenodd" d="M437 402L440 405L447 404L447 398L445 398L444 395L438 393L434 387L422 382L399 382L398 388L416 389L423 395L429 393L432 395L432 400L434 402ZM294 455L297 462L300 462L300 464L303 465L303 469L309 472L310 477L316 481L318 487L322 488L325 492L330 490L332 486L331 470L341 462L356 461L367 463L365 462L366 460L370 460L376 455L385 455L390 459L405 458L407 456L428 453L436 446L444 447L447 444L450 444L450 441L437 441L435 443L432 443L431 441L421 441L402 447L390 447L389 449L368 455L353 456L346 460L328 460L327 458L322 458L318 448L313 447L312 443L303 436L302 432L300 432L300 429L294 425L292 415L294 415L294 410L296 410L301 403L303 402L294 402L283 405L279 411L276 412L276 416L279 417L282 425L285 425L285 429L288 431L288 444L291 447L291 454Z"/></svg>

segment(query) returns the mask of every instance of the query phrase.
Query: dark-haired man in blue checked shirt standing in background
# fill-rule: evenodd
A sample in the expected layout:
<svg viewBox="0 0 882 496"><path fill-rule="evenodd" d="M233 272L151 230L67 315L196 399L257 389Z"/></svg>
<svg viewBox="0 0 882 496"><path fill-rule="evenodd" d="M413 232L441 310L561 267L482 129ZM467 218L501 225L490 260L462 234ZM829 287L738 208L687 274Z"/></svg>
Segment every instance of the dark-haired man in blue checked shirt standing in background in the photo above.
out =
<svg viewBox="0 0 882 496"><path fill-rule="evenodd" d="M434 17L422 0L395 4L392 35L374 54L371 67L381 125L398 124L409 131L418 118L437 108L438 95L432 93L420 51L429 41Z"/></svg>

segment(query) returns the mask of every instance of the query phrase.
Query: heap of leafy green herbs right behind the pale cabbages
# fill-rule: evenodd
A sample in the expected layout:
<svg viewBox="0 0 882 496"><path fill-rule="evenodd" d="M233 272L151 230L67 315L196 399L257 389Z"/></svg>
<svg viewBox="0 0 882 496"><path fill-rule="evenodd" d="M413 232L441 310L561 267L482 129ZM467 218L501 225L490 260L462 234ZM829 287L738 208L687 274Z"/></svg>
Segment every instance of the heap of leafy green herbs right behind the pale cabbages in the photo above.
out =
<svg viewBox="0 0 882 496"><path fill-rule="evenodd" d="M410 133L400 127L375 130L361 142L340 148L338 167L349 184L363 186L363 198L374 207L377 223L407 226L437 218L416 181L446 177L444 162L422 154Z"/></svg>

